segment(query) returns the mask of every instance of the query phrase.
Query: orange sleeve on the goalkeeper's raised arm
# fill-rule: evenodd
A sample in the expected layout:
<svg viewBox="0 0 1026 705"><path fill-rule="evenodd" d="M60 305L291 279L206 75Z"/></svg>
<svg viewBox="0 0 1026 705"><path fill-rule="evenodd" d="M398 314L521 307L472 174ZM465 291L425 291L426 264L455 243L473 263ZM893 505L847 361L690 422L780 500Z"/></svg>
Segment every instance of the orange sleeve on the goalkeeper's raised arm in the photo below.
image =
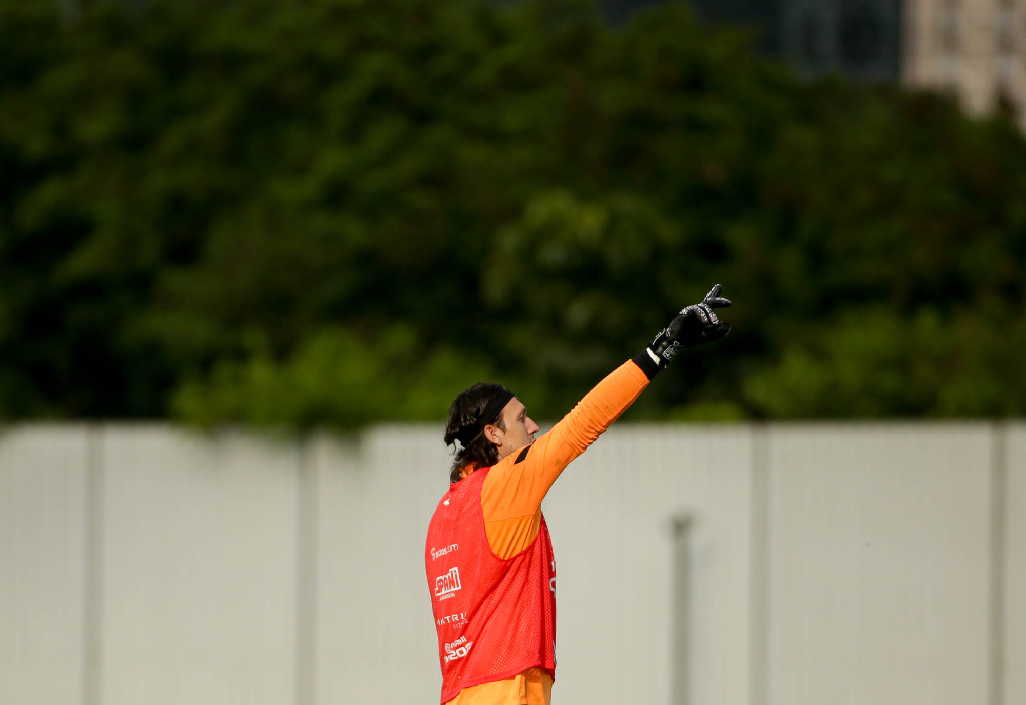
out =
<svg viewBox="0 0 1026 705"><path fill-rule="evenodd" d="M563 468L595 442L647 386L648 376L628 360L548 433L492 466L481 487L481 509L485 528L491 524L488 541L497 554L529 544L538 533L542 500ZM521 521L510 523L516 519Z"/></svg>

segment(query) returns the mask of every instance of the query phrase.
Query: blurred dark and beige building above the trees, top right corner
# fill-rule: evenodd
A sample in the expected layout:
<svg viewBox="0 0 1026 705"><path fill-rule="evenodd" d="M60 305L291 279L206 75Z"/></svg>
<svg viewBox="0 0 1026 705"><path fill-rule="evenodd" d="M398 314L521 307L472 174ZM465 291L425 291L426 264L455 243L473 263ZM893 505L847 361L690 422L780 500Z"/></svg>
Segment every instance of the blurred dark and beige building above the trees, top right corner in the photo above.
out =
<svg viewBox="0 0 1026 705"><path fill-rule="evenodd" d="M804 76L831 71L955 95L1026 129L1026 0L692 0L712 23L757 28Z"/></svg>

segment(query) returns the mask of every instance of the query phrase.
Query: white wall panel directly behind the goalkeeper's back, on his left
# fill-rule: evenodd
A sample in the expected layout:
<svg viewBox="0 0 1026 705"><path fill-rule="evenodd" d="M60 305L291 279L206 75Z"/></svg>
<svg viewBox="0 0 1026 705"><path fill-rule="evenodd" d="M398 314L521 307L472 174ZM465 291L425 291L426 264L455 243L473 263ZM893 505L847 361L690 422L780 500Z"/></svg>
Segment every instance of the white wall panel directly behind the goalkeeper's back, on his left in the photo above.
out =
<svg viewBox="0 0 1026 705"><path fill-rule="evenodd" d="M317 438L317 703L432 703L441 676L424 541L448 488L437 429ZM304 704L305 705L305 704Z"/></svg>

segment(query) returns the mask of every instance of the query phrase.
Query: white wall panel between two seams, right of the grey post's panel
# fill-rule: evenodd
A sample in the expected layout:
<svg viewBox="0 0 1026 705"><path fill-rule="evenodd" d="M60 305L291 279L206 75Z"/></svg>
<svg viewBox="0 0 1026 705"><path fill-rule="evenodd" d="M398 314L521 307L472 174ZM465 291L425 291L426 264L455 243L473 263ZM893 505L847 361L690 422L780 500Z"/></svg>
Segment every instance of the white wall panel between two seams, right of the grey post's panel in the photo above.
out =
<svg viewBox="0 0 1026 705"><path fill-rule="evenodd" d="M985 426L770 437L770 702L961 705L987 692Z"/></svg>

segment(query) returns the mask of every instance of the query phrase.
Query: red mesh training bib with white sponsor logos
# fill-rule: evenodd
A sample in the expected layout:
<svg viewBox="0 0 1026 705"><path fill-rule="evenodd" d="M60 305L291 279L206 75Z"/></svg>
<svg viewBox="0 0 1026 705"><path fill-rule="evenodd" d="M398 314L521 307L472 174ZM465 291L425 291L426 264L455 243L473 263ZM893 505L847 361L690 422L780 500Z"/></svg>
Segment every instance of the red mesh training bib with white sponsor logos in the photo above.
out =
<svg viewBox="0 0 1026 705"><path fill-rule="evenodd" d="M424 549L438 630L441 702L461 689L540 666L555 679L556 563L542 517L535 541L508 560L484 534L481 486L488 470L449 485Z"/></svg>

